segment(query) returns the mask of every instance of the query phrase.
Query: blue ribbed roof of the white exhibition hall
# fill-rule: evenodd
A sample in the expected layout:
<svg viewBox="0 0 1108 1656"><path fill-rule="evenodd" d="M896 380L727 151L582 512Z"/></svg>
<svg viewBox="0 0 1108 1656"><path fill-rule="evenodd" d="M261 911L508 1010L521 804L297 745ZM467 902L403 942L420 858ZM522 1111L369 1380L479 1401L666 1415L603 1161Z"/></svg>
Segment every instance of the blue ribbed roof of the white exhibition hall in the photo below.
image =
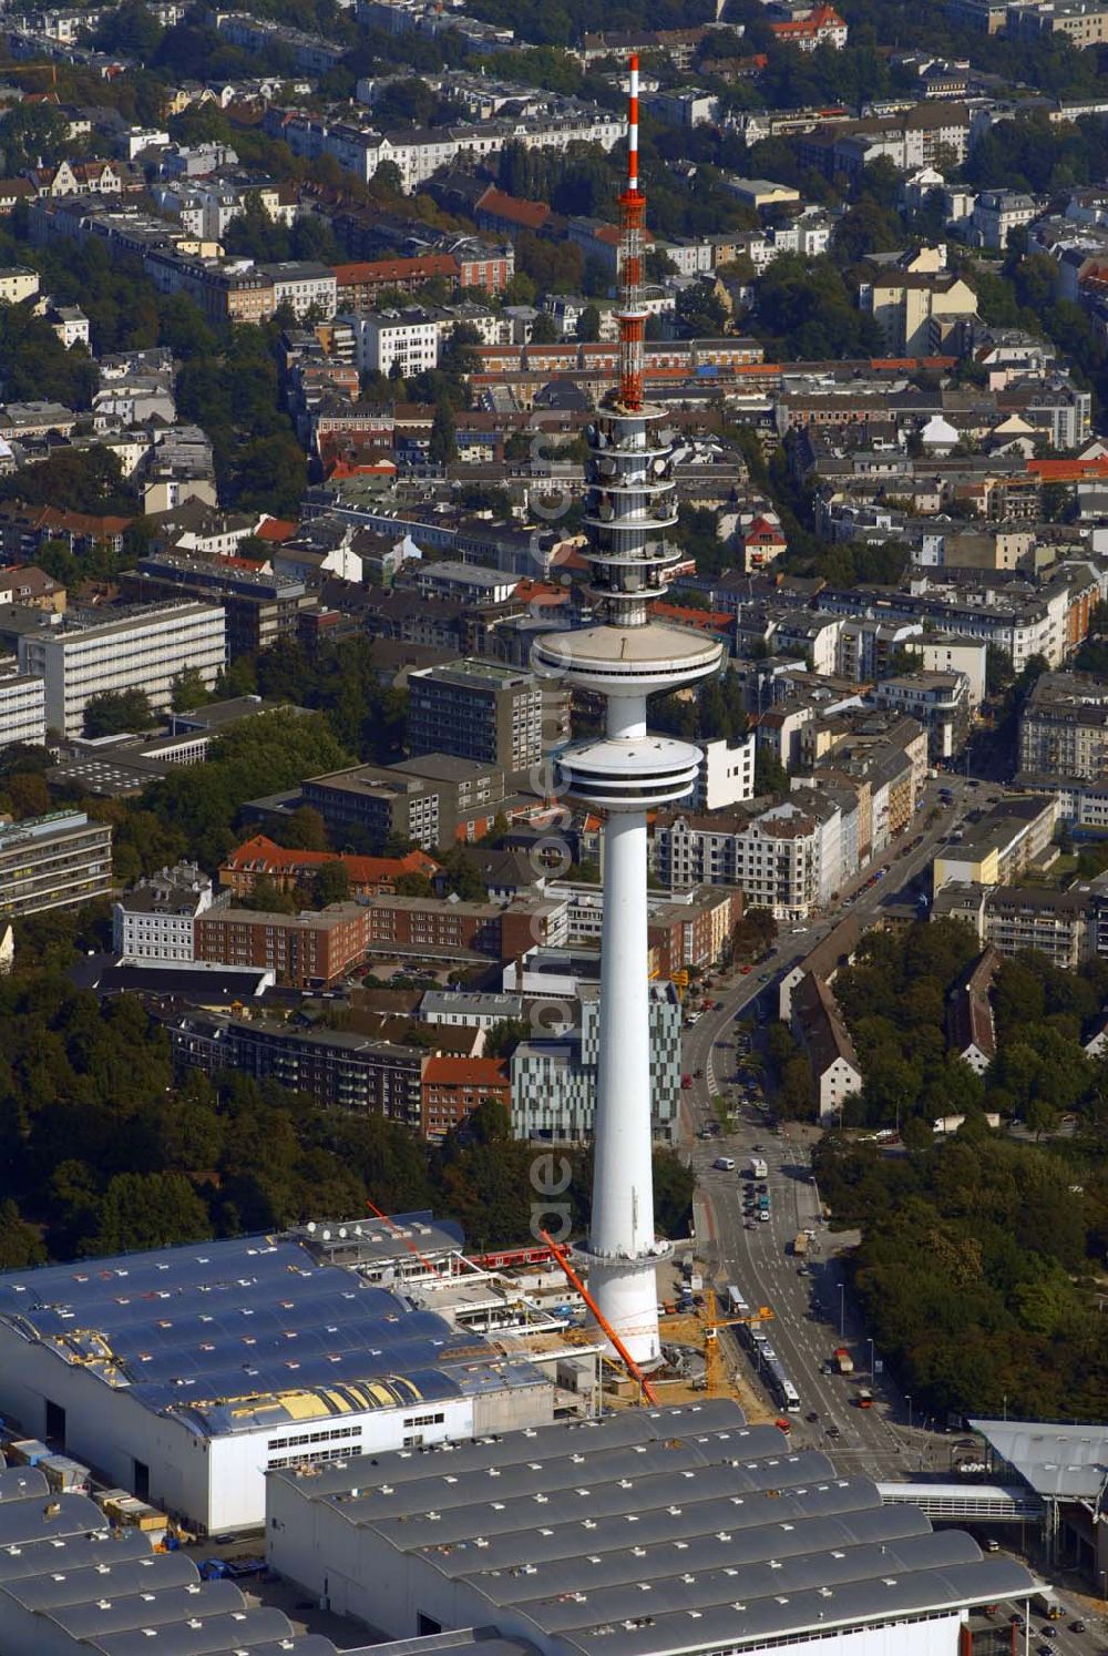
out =
<svg viewBox="0 0 1108 1656"><path fill-rule="evenodd" d="M373 1235L348 1264L406 1252L412 1217L366 1227ZM480 1336L320 1257L308 1244L328 1234L5 1272L0 1323L204 1437L542 1381L530 1363L492 1343L479 1350Z"/></svg>

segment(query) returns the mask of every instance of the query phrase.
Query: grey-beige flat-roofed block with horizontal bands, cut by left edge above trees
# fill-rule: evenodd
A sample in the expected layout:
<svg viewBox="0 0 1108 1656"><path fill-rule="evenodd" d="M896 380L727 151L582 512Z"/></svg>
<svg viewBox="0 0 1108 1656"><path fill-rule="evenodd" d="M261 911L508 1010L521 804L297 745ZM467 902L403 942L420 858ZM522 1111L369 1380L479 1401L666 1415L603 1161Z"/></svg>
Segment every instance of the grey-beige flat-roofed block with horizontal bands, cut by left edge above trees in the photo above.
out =
<svg viewBox="0 0 1108 1656"><path fill-rule="evenodd" d="M111 825L84 811L0 823L0 916L68 909L111 891Z"/></svg>

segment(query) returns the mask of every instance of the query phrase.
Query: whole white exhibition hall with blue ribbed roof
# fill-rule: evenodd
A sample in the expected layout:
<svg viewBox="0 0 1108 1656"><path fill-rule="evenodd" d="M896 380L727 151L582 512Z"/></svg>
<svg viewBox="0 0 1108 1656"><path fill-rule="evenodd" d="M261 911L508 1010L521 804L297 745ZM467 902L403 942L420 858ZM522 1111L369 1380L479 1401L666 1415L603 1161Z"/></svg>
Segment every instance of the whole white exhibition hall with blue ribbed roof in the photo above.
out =
<svg viewBox="0 0 1108 1656"><path fill-rule="evenodd" d="M552 1419L548 1376L401 1292L459 1257L407 1214L7 1272L0 1413L189 1528L257 1528L273 1467Z"/></svg>

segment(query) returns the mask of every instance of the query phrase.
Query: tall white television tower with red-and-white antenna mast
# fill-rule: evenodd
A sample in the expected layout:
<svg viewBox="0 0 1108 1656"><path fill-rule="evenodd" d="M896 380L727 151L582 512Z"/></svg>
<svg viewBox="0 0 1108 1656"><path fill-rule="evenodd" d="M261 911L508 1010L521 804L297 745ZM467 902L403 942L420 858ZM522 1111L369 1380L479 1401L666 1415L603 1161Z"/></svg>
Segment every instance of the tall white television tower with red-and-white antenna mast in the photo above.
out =
<svg viewBox="0 0 1108 1656"><path fill-rule="evenodd" d="M631 58L628 184L619 197L619 384L588 427L585 528L588 593L600 621L548 633L537 669L605 697L606 732L558 755L568 788L608 813L600 967L600 1065L593 1211L576 1252L608 1323L639 1366L661 1361L656 1267L669 1252L654 1235L651 1169L646 815L692 787L701 750L648 735L646 697L715 672L720 646L651 616L681 553L662 538L677 522L672 445L664 411L643 396L646 308L639 190L639 60Z"/></svg>

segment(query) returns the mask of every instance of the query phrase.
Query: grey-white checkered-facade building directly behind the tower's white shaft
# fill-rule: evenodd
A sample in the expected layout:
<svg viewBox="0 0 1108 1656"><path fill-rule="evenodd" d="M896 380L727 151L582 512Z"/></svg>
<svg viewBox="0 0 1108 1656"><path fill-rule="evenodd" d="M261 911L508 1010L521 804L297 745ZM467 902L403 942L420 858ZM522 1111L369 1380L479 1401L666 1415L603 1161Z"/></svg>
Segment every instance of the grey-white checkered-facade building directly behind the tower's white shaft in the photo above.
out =
<svg viewBox="0 0 1108 1656"><path fill-rule="evenodd" d="M591 1138L600 1058L600 990L581 984L580 1028L525 1042L512 1055L512 1133L522 1139ZM681 1098L681 1002L672 984L653 984L649 1002L651 1128L671 1139Z"/></svg>

